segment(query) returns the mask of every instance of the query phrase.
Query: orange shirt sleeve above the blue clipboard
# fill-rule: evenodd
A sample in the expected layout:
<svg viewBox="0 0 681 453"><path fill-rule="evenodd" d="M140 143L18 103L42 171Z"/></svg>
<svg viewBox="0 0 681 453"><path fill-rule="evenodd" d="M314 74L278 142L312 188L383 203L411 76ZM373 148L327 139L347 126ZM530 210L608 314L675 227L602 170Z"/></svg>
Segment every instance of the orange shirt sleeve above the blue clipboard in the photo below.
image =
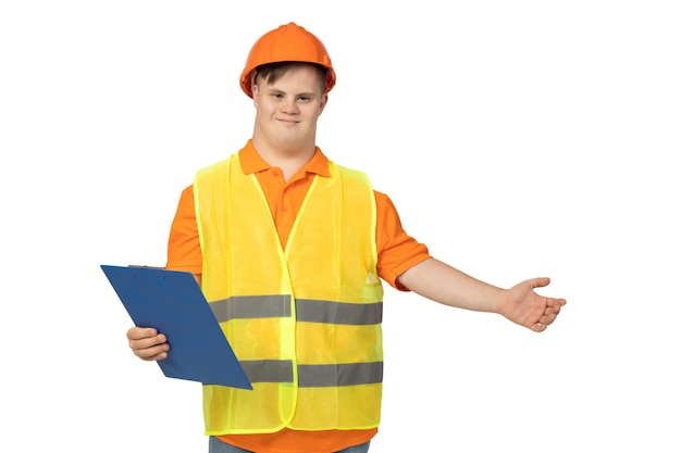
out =
<svg viewBox="0 0 681 453"><path fill-rule="evenodd" d="M201 274L203 256L194 210L194 187L182 191L168 239L165 268Z"/></svg>

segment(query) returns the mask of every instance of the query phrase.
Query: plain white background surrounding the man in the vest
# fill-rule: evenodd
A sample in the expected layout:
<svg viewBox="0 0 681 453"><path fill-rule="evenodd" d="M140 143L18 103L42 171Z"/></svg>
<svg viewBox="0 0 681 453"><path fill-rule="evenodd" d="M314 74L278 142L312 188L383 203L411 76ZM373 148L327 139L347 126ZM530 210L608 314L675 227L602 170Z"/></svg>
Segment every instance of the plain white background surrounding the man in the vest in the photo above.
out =
<svg viewBox="0 0 681 453"><path fill-rule="evenodd" d="M207 451L200 385L133 356L99 265L164 264L181 190L250 137L250 46L294 21L338 74L324 152L436 257L568 300L536 335L387 288L372 453L679 452L674 3L2 2L0 451Z"/></svg>

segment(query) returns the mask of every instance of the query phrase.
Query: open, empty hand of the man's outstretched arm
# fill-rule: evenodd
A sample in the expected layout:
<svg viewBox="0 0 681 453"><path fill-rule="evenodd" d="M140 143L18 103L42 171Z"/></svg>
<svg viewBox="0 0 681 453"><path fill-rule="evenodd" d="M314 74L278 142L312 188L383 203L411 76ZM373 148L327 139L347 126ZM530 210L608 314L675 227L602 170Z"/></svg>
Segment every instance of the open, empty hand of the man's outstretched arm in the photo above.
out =
<svg viewBox="0 0 681 453"><path fill-rule="evenodd" d="M565 299L546 298L534 292L535 288L543 288L549 282L548 277L532 278L510 288L506 291L499 313L535 332L546 330L567 303Z"/></svg>

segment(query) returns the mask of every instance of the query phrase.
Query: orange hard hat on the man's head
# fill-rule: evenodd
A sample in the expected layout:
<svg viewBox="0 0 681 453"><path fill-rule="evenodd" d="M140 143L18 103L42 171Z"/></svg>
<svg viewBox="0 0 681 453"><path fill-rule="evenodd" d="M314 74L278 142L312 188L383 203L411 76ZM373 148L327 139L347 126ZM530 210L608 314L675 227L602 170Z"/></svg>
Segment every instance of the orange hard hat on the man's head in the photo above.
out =
<svg viewBox="0 0 681 453"><path fill-rule="evenodd" d="M244 92L252 98L250 91L251 73L262 64L296 61L317 63L326 68L326 92L336 84L336 73L331 65L331 58L319 38L293 22L265 33L250 49L246 67L242 72L240 85Z"/></svg>

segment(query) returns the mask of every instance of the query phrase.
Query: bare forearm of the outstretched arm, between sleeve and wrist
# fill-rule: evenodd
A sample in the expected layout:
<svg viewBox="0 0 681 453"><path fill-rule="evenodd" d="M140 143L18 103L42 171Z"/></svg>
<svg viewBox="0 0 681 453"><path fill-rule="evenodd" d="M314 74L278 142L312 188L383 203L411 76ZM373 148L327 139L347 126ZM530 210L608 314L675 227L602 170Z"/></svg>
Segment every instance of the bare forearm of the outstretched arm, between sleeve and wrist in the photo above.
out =
<svg viewBox="0 0 681 453"><path fill-rule="evenodd" d="M506 292L435 259L409 268L398 280L424 298L476 312L499 313Z"/></svg>

